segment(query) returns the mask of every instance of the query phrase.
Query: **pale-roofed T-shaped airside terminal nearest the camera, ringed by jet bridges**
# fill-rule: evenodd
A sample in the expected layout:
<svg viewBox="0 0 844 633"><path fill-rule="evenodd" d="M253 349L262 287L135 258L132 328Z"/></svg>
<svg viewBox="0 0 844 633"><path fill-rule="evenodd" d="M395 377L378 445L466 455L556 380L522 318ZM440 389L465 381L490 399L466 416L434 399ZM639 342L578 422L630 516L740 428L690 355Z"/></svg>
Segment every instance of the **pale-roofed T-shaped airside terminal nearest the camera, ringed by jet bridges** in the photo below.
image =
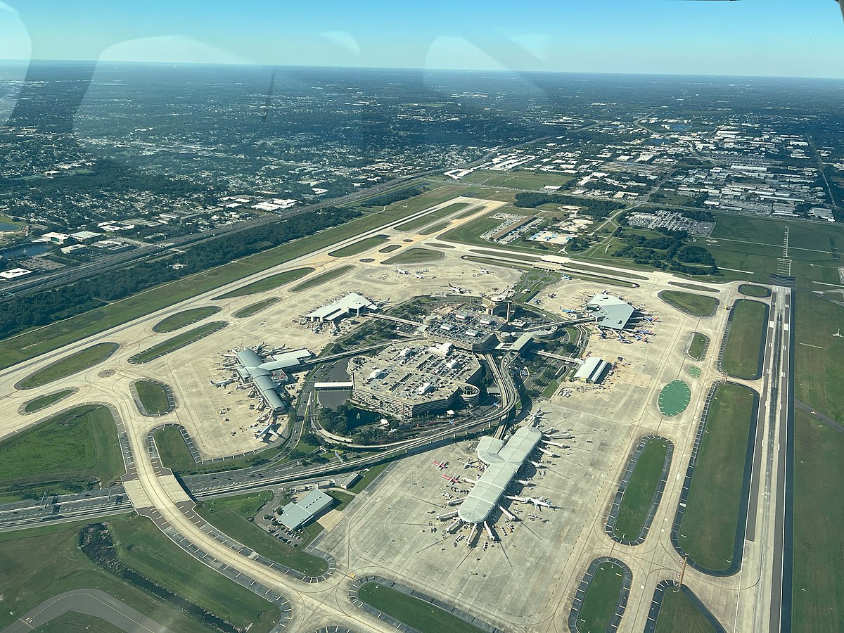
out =
<svg viewBox="0 0 844 633"><path fill-rule="evenodd" d="M460 504L457 517L467 523L485 522L541 439L542 432L530 426L519 428L506 443L495 437L481 437L478 458L487 467Z"/></svg>

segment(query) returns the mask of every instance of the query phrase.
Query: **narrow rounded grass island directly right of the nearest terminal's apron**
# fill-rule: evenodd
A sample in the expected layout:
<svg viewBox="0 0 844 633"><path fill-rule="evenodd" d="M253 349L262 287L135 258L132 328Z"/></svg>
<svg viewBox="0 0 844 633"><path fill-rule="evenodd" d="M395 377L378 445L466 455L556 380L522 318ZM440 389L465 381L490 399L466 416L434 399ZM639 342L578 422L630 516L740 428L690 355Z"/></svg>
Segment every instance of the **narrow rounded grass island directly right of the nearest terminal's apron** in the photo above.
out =
<svg viewBox="0 0 844 633"><path fill-rule="evenodd" d="M651 510L653 495L657 491L663 473L668 444L664 440L651 439L636 461L636 468L621 497L619 513L615 519L613 533L618 538L635 540L645 526Z"/></svg>

